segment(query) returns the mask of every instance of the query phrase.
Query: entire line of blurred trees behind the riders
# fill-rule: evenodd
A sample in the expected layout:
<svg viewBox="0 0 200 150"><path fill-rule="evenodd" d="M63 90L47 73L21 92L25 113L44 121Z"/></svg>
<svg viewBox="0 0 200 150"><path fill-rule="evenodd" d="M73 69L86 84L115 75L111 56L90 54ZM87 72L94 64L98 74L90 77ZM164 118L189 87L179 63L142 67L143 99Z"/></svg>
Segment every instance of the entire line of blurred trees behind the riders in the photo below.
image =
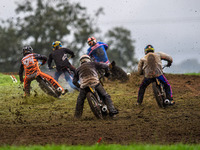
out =
<svg viewBox="0 0 200 150"><path fill-rule="evenodd" d="M78 64L80 55L88 48L89 36L109 45L108 57L118 66L131 68L137 62L135 41L128 29L115 27L101 34L98 18L103 14L103 8L91 15L86 7L69 0L24 0L16 5L16 17L1 20L0 24L1 72L18 71L24 45L31 45L35 53L48 56L52 51L51 44L56 40L74 51L73 64Z"/></svg>

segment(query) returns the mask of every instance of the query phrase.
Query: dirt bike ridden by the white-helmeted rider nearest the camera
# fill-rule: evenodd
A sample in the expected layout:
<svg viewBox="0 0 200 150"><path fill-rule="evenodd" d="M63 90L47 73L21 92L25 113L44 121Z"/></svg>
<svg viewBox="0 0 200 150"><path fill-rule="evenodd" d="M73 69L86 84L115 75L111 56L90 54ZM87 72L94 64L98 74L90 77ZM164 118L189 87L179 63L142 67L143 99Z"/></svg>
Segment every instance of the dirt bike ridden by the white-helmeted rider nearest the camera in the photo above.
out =
<svg viewBox="0 0 200 150"><path fill-rule="evenodd" d="M87 88L86 97L88 104L96 118L104 119L108 114L108 109L102 98L99 96L98 92L95 90L95 87L89 86Z"/></svg>

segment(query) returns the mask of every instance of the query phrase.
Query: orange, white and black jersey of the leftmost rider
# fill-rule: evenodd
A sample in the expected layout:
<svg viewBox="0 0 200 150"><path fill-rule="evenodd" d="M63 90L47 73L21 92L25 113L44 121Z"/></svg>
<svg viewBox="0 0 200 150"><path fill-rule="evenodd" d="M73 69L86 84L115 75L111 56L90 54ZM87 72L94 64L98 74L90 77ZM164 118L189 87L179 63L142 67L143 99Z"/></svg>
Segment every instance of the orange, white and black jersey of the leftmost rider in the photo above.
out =
<svg viewBox="0 0 200 150"><path fill-rule="evenodd" d="M20 81L23 81L23 71L25 70L25 77L32 78L40 72L38 60L43 60L42 64L46 63L47 57L40 54L28 54L21 60L21 66L19 70Z"/></svg>

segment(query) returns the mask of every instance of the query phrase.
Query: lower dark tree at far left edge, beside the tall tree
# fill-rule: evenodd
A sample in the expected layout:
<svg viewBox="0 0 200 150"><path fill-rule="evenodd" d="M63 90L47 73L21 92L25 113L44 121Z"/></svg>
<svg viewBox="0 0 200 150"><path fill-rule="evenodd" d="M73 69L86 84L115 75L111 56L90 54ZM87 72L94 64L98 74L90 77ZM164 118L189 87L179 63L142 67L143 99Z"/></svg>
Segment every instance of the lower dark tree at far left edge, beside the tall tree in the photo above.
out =
<svg viewBox="0 0 200 150"><path fill-rule="evenodd" d="M15 25L12 20L3 22L7 27L0 26L0 70L1 72L14 72L21 58L21 36L18 35Z"/></svg>

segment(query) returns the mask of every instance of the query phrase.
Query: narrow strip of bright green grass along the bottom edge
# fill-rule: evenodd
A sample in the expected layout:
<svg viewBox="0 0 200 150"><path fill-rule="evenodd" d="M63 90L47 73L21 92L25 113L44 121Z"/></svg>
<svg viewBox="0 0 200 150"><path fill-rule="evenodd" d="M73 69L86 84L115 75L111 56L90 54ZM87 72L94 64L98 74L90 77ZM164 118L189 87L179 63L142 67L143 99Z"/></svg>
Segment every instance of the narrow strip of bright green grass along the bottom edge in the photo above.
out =
<svg viewBox="0 0 200 150"><path fill-rule="evenodd" d="M0 150L199 150L200 145L3 146Z"/></svg>

